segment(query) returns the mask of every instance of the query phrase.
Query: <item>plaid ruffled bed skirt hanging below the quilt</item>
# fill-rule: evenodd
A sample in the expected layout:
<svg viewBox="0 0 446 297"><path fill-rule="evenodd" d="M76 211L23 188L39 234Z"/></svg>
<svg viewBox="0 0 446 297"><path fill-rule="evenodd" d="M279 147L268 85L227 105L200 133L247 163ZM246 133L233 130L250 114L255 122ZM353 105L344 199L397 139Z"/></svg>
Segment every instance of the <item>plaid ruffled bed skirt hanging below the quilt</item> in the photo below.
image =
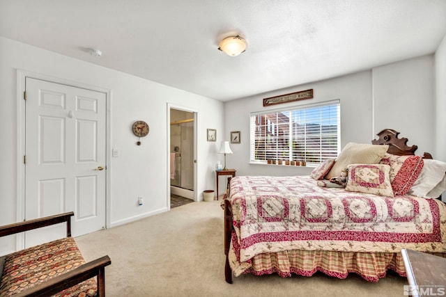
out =
<svg viewBox="0 0 446 297"><path fill-rule="evenodd" d="M446 254L433 254L446 257ZM232 249L229 251L229 263L234 275L252 273L264 275L277 273L282 278L292 274L312 276L321 271L334 278L344 279L348 273L357 273L364 280L378 282L384 278L388 269L405 277L401 252L336 252L321 250L289 250L276 253L264 253L254 256L248 262L240 264Z"/></svg>

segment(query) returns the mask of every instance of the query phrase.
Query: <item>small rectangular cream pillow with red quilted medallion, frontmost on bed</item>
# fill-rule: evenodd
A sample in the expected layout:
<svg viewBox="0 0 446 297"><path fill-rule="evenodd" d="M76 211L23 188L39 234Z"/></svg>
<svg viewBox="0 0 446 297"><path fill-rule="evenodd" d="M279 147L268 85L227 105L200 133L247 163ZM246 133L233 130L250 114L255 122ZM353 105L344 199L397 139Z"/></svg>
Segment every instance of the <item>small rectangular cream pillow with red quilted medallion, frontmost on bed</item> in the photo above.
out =
<svg viewBox="0 0 446 297"><path fill-rule="evenodd" d="M385 164L349 165L346 191L394 197L390 184L390 166Z"/></svg>

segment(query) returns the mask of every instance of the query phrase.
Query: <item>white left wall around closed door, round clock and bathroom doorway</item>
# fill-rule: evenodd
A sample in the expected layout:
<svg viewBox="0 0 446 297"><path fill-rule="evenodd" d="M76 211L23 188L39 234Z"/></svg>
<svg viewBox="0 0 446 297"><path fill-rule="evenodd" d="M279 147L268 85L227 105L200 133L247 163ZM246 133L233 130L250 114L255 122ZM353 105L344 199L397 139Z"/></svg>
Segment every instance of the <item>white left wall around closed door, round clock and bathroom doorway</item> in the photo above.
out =
<svg viewBox="0 0 446 297"><path fill-rule="evenodd" d="M213 170L224 127L222 102L0 38L0 225L22 220L16 209L17 158L22 158L17 156L16 144L17 70L111 90L109 150L117 148L119 156L109 160L110 225L167 210L168 103L197 111L199 199L203 190L215 187ZM141 146L135 144L137 138L131 131L135 120L145 120L150 126L148 136L141 138ZM206 141L207 128L217 129L217 142ZM138 196L144 198L140 207ZM0 241L0 255L9 244Z"/></svg>

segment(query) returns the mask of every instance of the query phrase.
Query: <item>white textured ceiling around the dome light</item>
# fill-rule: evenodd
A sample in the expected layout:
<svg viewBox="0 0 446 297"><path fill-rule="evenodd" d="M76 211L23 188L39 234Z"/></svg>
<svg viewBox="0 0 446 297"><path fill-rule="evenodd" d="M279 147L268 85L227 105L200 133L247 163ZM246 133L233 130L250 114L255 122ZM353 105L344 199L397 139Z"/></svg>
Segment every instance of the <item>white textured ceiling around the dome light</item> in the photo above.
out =
<svg viewBox="0 0 446 297"><path fill-rule="evenodd" d="M0 0L0 35L226 101L432 54L446 1Z"/></svg>

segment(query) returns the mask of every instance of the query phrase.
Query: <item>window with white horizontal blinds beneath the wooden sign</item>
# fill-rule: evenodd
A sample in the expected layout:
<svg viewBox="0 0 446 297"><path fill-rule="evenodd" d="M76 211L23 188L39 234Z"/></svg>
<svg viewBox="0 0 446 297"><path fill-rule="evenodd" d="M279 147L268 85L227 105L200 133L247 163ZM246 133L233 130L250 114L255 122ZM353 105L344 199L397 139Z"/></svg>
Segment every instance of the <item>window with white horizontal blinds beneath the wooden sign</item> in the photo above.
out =
<svg viewBox="0 0 446 297"><path fill-rule="evenodd" d="M251 161L336 158L340 137L339 100L251 114Z"/></svg>

